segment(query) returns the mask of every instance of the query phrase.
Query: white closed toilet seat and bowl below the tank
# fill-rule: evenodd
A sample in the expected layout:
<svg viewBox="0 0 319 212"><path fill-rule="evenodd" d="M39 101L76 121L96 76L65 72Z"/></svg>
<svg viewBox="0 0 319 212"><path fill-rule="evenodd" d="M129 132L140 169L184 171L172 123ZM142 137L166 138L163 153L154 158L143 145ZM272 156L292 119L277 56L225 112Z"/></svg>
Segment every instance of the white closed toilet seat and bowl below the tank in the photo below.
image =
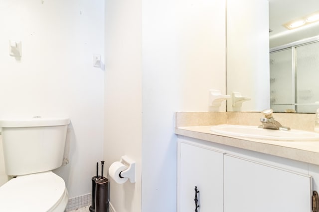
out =
<svg viewBox="0 0 319 212"><path fill-rule="evenodd" d="M67 202L64 180L52 171L18 176L0 187L1 212L63 212Z"/></svg>

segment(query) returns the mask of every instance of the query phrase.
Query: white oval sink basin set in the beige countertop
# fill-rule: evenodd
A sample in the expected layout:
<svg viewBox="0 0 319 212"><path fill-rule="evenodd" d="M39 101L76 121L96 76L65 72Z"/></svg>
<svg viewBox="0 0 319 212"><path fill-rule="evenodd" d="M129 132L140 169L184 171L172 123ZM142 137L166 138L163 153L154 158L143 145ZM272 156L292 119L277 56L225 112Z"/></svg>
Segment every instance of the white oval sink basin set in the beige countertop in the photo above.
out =
<svg viewBox="0 0 319 212"><path fill-rule="evenodd" d="M319 134L301 130L269 130L258 126L216 125L210 128L214 133L245 137L251 139L267 139L276 141L319 141Z"/></svg>

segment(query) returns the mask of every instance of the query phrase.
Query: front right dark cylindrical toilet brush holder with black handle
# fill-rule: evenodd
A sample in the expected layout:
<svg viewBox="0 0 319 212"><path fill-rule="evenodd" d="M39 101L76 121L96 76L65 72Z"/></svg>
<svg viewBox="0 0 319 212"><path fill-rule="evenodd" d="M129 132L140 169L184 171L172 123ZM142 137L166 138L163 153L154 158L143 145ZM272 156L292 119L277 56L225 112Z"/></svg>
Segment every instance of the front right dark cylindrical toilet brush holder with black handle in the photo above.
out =
<svg viewBox="0 0 319 212"><path fill-rule="evenodd" d="M95 212L108 212L109 179L103 176L104 161L101 164L101 176L95 181Z"/></svg>

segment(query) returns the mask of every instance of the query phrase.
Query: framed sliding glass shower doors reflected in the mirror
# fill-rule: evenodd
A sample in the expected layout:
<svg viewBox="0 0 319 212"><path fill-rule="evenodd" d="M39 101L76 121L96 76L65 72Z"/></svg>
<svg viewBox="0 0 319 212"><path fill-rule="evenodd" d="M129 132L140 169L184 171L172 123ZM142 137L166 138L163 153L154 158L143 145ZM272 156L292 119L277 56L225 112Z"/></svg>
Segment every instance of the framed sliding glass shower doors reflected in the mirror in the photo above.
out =
<svg viewBox="0 0 319 212"><path fill-rule="evenodd" d="M270 103L275 112L316 112L319 41L270 53Z"/></svg>

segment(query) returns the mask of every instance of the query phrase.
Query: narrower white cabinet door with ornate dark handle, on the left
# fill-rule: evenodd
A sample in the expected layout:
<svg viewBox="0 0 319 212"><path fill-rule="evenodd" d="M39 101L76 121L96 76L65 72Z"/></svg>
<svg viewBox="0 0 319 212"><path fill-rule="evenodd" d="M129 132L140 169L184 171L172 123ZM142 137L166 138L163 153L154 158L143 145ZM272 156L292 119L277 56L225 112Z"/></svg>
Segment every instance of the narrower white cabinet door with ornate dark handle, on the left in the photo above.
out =
<svg viewBox="0 0 319 212"><path fill-rule="evenodd" d="M223 212L223 153L180 143L178 212Z"/></svg>

